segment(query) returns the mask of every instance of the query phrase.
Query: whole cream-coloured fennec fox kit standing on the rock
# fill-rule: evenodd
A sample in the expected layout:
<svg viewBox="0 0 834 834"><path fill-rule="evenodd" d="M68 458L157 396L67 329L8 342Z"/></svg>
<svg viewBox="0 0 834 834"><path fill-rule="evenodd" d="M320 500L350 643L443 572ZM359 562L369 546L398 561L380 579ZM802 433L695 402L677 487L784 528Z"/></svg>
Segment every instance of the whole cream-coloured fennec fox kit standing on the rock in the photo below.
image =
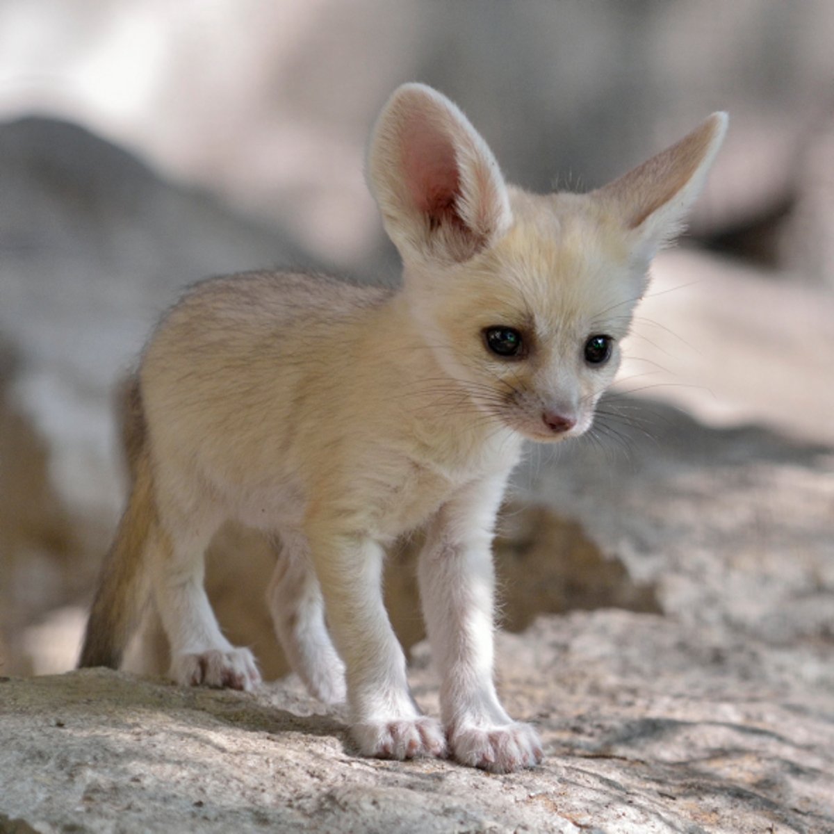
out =
<svg viewBox="0 0 834 834"><path fill-rule="evenodd" d="M135 379L133 489L81 666L117 667L151 596L175 681L257 686L203 590L203 550L235 519L274 536L275 631L315 696L347 698L359 751L539 762L493 682L495 514L525 439L590 426L725 128L716 113L605 188L539 196L505 183L455 104L397 89L368 168L401 288L248 273L170 310ZM418 527L440 721L409 694L380 591L385 545Z"/></svg>

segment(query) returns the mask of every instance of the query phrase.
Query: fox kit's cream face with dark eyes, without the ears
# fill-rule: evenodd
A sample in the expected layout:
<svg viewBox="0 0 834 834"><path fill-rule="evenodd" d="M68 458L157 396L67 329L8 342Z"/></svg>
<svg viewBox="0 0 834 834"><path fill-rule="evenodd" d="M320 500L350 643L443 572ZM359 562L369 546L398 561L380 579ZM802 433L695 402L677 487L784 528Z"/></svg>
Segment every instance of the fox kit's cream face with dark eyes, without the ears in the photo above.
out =
<svg viewBox="0 0 834 834"><path fill-rule="evenodd" d="M494 245L409 287L414 313L482 413L530 440L576 437L620 366L642 275L582 198L511 203L514 223Z"/></svg>

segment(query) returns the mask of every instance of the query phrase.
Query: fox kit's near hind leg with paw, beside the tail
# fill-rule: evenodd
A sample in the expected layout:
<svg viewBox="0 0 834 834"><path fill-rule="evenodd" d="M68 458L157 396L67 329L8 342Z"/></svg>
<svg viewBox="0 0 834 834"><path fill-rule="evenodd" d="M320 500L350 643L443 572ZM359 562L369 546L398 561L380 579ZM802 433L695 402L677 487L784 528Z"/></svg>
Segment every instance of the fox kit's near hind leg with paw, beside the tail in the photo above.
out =
<svg viewBox="0 0 834 834"><path fill-rule="evenodd" d="M261 680L254 657L223 636L203 587L204 552L221 518L166 515L152 530L149 555L153 596L171 645L170 674L185 686L251 690Z"/></svg>

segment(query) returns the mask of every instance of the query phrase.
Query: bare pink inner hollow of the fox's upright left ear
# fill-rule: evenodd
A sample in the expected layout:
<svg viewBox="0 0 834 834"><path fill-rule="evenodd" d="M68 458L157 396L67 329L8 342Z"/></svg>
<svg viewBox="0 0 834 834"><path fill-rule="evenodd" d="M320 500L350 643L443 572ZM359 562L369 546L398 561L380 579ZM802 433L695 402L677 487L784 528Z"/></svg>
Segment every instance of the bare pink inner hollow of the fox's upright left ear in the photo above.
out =
<svg viewBox="0 0 834 834"><path fill-rule="evenodd" d="M414 206L428 214L433 226L454 212L460 194L455 146L438 128L411 119L402 134L403 168Z"/></svg>

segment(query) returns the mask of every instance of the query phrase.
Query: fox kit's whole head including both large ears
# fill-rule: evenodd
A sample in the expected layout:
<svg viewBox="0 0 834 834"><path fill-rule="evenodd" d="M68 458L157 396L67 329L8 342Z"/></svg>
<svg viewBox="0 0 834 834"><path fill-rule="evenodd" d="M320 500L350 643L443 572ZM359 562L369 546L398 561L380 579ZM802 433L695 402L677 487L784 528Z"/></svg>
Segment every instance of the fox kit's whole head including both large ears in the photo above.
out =
<svg viewBox="0 0 834 834"><path fill-rule="evenodd" d="M394 92L374 128L370 185L420 332L481 410L531 440L588 429L651 259L681 230L726 122L714 113L604 188L537 195L505 183L445 96Z"/></svg>

